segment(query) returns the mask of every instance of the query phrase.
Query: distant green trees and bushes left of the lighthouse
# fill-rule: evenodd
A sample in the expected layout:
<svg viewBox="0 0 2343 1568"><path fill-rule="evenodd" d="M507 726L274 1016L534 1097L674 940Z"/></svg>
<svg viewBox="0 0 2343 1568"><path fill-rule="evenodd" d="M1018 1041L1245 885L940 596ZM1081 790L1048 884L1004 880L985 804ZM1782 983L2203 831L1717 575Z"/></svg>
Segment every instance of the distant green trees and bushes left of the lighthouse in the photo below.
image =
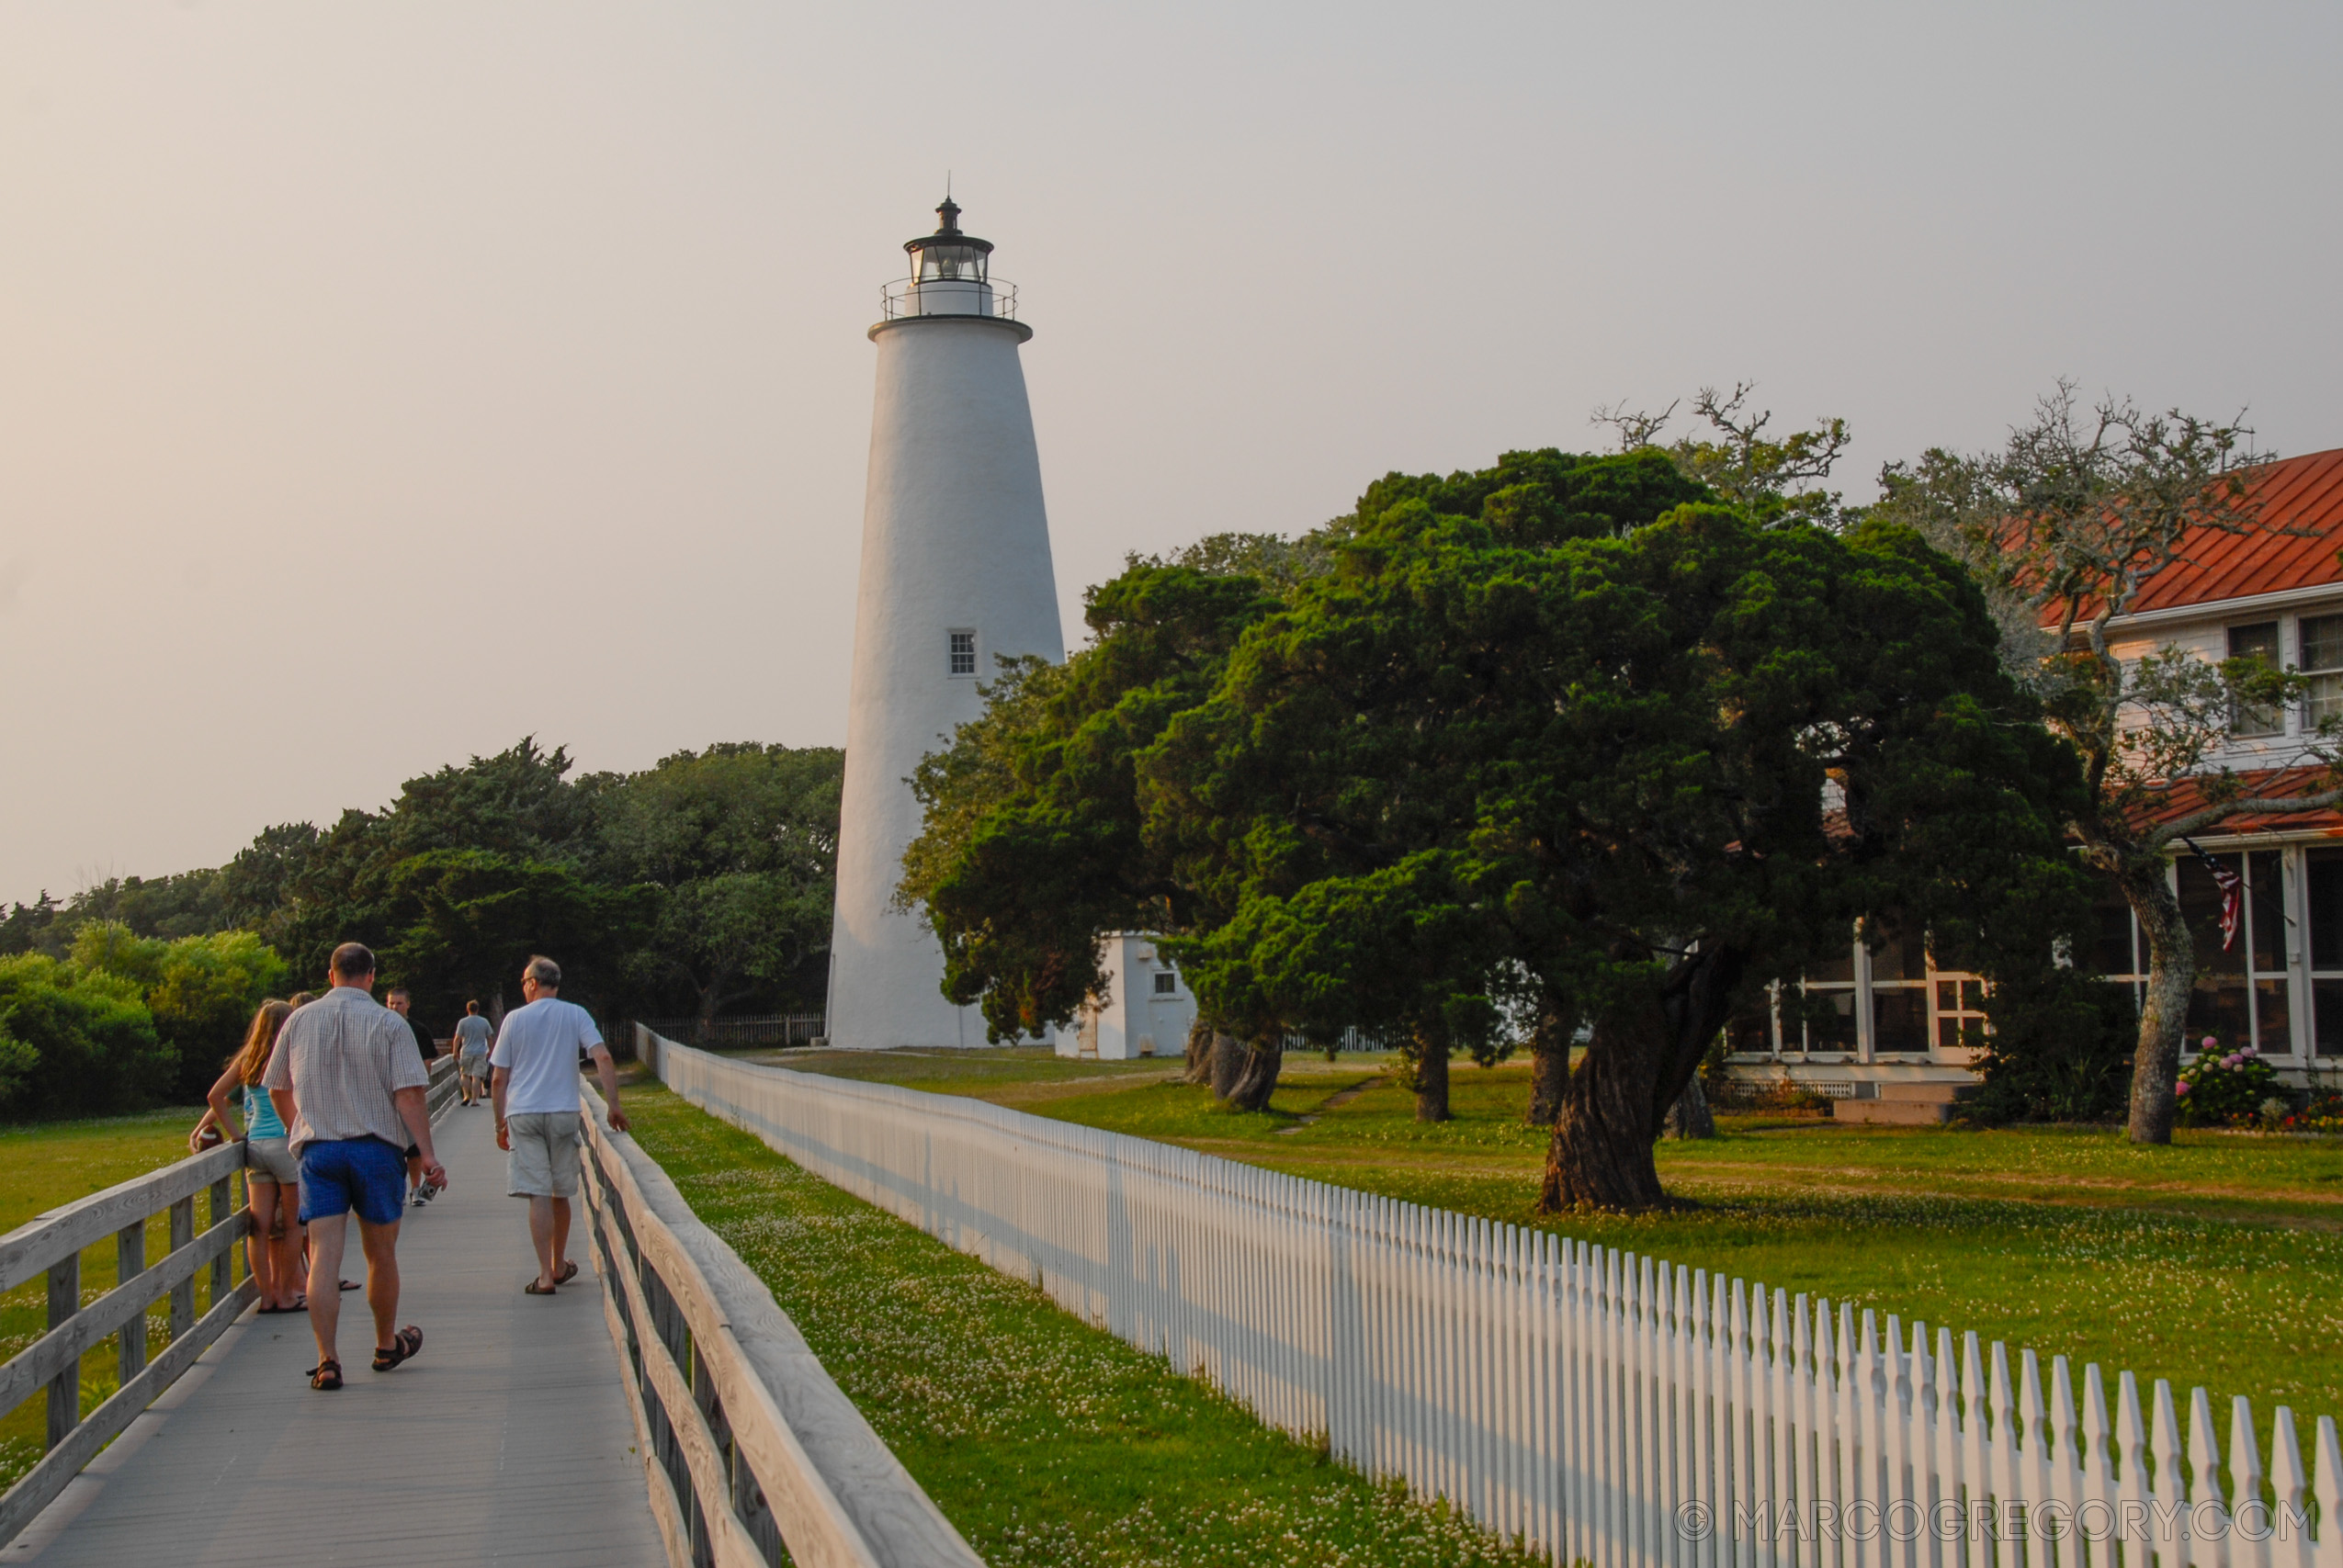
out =
<svg viewBox="0 0 2343 1568"><path fill-rule="evenodd" d="M323 987L349 940L440 1036L466 1001L518 1005L532 952L604 1015L820 1005L843 752L569 771L525 738L410 778L387 811L269 827L216 870L12 905L0 1118L199 1099L260 998Z"/></svg>

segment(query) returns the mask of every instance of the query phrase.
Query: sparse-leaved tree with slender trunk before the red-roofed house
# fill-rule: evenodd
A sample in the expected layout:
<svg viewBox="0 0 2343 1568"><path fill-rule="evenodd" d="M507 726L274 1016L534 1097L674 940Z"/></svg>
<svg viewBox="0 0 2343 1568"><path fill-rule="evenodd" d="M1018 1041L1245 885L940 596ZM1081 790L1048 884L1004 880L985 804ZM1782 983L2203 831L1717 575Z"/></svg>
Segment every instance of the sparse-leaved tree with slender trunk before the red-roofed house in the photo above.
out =
<svg viewBox="0 0 2343 1568"><path fill-rule="evenodd" d="M2036 687L2050 727L2083 757L2069 830L2149 949L2130 1097L2139 1144L2172 1141L2195 984L2195 949L2167 881L2172 846L2238 816L2343 802L2334 727L2298 738L2277 799L2252 797L2228 764L2238 717L2298 701L2301 675L2172 647L2127 661L2109 640L2109 626L2186 563L2191 539L2282 527L2263 518L2254 485L2266 462L2235 420L2144 413L2123 398L2081 408L2059 384L1999 452L1931 450L1891 464L1872 509L1968 560L1996 600L2008 668ZM2172 811L2170 785L2181 778L2195 806Z"/></svg>

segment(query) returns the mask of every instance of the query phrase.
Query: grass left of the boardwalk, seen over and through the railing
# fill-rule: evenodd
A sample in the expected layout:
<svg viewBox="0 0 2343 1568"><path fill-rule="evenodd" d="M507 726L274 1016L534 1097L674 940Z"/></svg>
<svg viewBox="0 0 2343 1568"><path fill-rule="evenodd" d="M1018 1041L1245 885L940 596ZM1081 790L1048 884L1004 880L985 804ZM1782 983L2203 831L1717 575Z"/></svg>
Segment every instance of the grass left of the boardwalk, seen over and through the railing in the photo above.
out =
<svg viewBox="0 0 2343 1568"><path fill-rule="evenodd" d="M201 1109L148 1111L82 1123L40 1123L0 1127L0 1233L23 1221L129 1181L143 1172L187 1158L187 1127ZM204 1198L194 1202L194 1223L209 1223ZM169 1214L148 1221L148 1261L171 1252ZM241 1266L234 1270L241 1277ZM211 1310L211 1270L197 1270L194 1310ZM115 1238L82 1252L82 1301L96 1301L115 1287ZM169 1303L148 1310L148 1355L169 1343ZM49 1329L49 1284L35 1277L0 1296L0 1362L21 1352ZM119 1388L115 1341L82 1357L82 1411L94 1411ZM49 1399L33 1395L14 1411L0 1411L0 1488L7 1488L42 1455L49 1430Z"/></svg>

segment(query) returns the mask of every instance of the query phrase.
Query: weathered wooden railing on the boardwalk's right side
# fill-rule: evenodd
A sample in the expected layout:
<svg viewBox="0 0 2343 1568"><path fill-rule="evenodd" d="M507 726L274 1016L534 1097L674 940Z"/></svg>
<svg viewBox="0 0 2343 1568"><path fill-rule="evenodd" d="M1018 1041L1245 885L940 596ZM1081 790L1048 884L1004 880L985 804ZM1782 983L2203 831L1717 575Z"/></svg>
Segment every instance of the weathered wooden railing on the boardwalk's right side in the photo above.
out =
<svg viewBox="0 0 2343 1568"><path fill-rule="evenodd" d="M586 1097L586 1202L670 1568L982 1568L797 1324Z"/></svg>

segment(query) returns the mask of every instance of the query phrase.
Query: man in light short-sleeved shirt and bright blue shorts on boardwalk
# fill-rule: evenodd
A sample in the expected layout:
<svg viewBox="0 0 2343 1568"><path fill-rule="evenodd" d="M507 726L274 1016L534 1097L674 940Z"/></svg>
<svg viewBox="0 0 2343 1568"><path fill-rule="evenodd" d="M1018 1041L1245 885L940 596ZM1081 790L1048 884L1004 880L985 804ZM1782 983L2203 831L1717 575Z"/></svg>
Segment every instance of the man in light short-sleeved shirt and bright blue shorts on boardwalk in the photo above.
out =
<svg viewBox="0 0 2343 1568"><path fill-rule="evenodd" d="M431 1186L448 1167L431 1151L424 1109L429 1073L405 1020L375 1001L375 954L361 942L333 949L333 989L298 1008L276 1036L262 1083L291 1130L300 1160L300 1219L309 1226L309 1329L316 1366L309 1388L342 1388L335 1329L342 1317L342 1245L351 1209L366 1249L366 1305L375 1313L375 1371L391 1371L424 1348L424 1331L398 1322L398 1216L408 1144Z"/></svg>

